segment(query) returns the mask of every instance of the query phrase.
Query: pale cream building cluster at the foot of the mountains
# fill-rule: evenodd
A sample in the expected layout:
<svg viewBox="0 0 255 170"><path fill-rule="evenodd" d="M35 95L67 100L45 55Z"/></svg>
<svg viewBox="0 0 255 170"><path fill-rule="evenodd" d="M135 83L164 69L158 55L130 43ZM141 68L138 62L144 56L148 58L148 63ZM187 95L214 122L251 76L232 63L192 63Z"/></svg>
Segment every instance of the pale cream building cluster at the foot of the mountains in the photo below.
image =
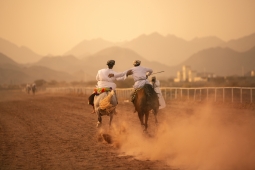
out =
<svg viewBox="0 0 255 170"><path fill-rule="evenodd" d="M190 66L182 66L182 71L177 72L177 77L174 82L197 82L197 81L207 81L207 78L215 77L212 73L197 73L191 70Z"/></svg>

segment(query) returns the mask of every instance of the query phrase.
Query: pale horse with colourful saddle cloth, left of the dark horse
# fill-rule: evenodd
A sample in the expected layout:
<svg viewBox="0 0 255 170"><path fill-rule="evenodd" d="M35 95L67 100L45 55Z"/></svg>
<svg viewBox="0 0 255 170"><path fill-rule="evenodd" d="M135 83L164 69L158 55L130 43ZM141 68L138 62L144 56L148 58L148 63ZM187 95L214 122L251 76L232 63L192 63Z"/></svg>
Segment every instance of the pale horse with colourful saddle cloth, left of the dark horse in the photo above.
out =
<svg viewBox="0 0 255 170"><path fill-rule="evenodd" d="M109 116L109 126L113 119L113 115L116 114L115 108L117 106L117 98L115 96L115 91L106 91L95 95L94 97L94 108L97 114L97 127L100 127L102 124L102 116Z"/></svg>

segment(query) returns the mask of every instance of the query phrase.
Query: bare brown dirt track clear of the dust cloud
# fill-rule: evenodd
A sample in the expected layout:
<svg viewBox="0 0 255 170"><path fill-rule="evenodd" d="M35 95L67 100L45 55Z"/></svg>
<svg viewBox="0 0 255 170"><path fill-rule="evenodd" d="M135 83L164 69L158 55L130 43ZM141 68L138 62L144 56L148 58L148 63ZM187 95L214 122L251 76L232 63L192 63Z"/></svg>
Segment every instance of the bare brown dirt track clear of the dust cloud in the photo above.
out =
<svg viewBox="0 0 255 170"><path fill-rule="evenodd" d="M86 96L0 95L0 169L171 169L162 161L119 156L118 148L99 142ZM120 103L113 121L131 113L139 123L130 108Z"/></svg>

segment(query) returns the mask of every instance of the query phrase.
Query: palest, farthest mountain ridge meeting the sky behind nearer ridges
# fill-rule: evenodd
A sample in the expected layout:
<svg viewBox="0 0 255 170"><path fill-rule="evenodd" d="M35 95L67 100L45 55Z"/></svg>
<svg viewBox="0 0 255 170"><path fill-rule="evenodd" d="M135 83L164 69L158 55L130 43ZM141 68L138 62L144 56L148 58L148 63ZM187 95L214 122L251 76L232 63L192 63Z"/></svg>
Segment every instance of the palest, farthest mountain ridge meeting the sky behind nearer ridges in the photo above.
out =
<svg viewBox="0 0 255 170"><path fill-rule="evenodd" d="M194 53L207 48L229 47L238 52L247 51L255 46L255 33L228 42L213 36L186 41L174 35L162 36L158 33L141 35L131 41L122 43L112 43L103 39L85 40L69 50L65 55L73 54L82 58L111 46L129 48L149 61L175 66L188 59Z"/></svg>

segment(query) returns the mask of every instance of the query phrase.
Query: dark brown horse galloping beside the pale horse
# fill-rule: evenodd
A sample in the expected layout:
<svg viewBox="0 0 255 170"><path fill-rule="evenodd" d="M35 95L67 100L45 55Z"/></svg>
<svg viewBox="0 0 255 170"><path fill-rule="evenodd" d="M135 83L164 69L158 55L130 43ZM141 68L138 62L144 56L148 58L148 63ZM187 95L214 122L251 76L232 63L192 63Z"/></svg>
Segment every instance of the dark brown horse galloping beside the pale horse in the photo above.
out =
<svg viewBox="0 0 255 170"><path fill-rule="evenodd" d="M155 123L158 123L157 113L159 110L158 95L153 89L152 85L145 84L142 88L136 89L133 94L133 104L135 110L138 112L138 117L144 132L148 128L149 113L153 112L155 116ZM144 118L145 116L145 118Z"/></svg>

